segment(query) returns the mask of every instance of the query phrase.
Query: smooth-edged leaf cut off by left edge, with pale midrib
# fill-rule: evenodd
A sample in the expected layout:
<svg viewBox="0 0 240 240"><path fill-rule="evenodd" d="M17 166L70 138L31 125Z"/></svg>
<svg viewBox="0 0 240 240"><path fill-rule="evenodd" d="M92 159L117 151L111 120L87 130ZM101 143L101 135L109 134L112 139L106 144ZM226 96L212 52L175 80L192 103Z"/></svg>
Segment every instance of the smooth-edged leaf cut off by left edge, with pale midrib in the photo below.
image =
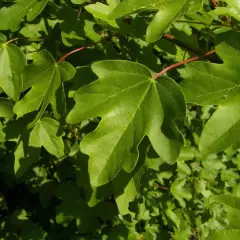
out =
<svg viewBox="0 0 240 240"><path fill-rule="evenodd" d="M20 48L0 43L0 88L14 101L22 91L21 73L27 62Z"/></svg>

